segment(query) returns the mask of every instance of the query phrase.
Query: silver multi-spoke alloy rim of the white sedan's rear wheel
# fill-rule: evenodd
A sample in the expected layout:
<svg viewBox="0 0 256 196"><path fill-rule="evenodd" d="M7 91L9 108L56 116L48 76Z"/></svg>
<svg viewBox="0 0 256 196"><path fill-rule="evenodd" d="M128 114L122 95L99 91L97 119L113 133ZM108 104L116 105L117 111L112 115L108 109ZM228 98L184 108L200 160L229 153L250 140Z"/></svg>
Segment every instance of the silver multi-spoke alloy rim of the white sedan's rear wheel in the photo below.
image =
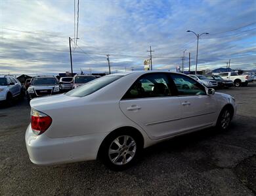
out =
<svg viewBox="0 0 256 196"><path fill-rule="evenodd" d="M108 157L114 165L125 165L133 159L136 150L137 144L133 137L121 135L110 144Z"/></svg>

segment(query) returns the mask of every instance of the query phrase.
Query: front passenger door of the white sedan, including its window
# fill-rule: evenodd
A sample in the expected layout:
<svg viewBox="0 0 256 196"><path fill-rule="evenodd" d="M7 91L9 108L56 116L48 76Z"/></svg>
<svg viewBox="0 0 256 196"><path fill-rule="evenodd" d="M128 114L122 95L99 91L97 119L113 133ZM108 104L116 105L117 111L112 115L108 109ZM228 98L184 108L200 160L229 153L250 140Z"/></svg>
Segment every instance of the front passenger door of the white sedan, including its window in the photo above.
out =
<svg viewBox="0 0 256 196"><path fill-rule="evenodd" d="M213 125L216 120L214 95L207 95L202 84L188 76L170 75L181 101L184 131Z"/></svg>

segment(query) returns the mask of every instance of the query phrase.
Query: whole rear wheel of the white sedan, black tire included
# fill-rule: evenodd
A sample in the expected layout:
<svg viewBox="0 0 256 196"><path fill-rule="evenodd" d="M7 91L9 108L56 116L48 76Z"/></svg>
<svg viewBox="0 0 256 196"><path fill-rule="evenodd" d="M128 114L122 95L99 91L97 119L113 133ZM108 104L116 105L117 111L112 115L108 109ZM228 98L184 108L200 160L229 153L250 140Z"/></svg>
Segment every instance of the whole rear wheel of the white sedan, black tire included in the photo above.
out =
<svg viewBox="0 0 256 196"><path fill-rule="evenodd" d="M137 133L119 130L114 134L110 133L102 142L98 157L109 169L123 171L137 161L141 150L142 142Z"/></svg>

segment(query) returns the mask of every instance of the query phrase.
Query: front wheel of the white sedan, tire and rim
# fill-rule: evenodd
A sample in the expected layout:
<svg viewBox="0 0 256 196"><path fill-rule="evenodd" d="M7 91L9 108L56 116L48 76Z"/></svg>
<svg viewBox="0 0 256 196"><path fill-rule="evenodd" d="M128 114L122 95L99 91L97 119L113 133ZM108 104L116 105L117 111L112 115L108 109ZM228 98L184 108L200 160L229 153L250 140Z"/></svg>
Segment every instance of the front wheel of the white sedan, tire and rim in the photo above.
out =
<svg viewBox="0 0 256 196"><path fill-rule="evenodd" d="M224 107L219 114L216 127L220 131L225 131L228 129L230 122L232 120L232 110L229 107Z"/></svg>

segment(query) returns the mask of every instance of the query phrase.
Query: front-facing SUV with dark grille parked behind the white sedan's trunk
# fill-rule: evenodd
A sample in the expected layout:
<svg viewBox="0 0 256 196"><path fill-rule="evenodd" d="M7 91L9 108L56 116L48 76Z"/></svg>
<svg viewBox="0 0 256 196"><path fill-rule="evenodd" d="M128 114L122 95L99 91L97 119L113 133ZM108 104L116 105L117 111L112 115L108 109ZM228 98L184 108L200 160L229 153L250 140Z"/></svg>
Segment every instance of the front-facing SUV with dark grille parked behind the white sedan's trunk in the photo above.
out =
<svg viewBox="0 0 256 196"><path fill-rule="evenodd" d="M57 93L60 93L60 86L55 76L35 76L27 90L27 98L30 100Z"/></svg>

